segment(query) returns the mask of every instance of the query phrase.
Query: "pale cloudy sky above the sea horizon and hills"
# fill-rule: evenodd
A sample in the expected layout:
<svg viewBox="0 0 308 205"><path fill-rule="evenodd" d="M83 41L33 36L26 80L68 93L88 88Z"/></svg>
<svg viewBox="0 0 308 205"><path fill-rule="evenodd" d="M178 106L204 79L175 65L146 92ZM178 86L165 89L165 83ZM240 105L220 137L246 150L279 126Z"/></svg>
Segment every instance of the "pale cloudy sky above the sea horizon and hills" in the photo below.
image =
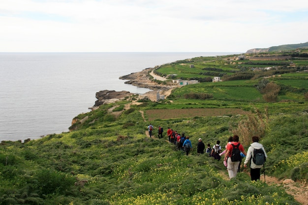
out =
<svg viewBox="0 0 308 205"><path fill-rule="evenodd" d="M305 42L305 0L0 1L0 52L245 53Z"/></svg>

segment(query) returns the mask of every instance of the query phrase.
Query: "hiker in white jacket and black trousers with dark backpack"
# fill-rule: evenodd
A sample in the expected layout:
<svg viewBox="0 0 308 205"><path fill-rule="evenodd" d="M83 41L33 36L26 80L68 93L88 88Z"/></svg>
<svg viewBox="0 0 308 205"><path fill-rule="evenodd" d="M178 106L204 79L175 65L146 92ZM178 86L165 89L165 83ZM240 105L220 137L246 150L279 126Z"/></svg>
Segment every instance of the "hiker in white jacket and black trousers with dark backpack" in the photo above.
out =
<svg viewBox="0 0 308 205"><path fill-rule="evenodd" d="M253 160L254 158L256 158L256 156L254 154L257 154L256 151L257 150L262 150L264 153L264 156L262 157L265 157L261 160L264 160L262 161L261 165L256 165L256 164L260 164L258 162L256 162L255 160ZM246 155L246 159L245 159L245 162L244 162L244 167L246 168L247 167L247 164L250 160L250 177L251 177L251 181L256 181L256 180L260 180L260 171L261 171L261 167L264 165L264 162L267 158L267 154L265 152L265 149L263 147L262 144L259 143L259 137L257 136L253 136L252 137L252 144L250 144L248 150L247 150L247 155ZM256 163L256 164L255 164Z"/></svg>

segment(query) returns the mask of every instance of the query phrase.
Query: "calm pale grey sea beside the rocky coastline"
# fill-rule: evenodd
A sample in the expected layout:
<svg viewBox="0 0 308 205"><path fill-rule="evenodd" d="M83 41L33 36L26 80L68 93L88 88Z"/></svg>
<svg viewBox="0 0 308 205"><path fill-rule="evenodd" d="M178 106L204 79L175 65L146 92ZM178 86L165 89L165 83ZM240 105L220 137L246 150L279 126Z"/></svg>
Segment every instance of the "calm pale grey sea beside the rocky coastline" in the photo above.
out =
<svg viewBox="0 0 308 205"><path fill-rule="evenodd" d="M239 52L0 53L0 142L68 132L100 90L146 93L119 77L200 56Z"/></svg>

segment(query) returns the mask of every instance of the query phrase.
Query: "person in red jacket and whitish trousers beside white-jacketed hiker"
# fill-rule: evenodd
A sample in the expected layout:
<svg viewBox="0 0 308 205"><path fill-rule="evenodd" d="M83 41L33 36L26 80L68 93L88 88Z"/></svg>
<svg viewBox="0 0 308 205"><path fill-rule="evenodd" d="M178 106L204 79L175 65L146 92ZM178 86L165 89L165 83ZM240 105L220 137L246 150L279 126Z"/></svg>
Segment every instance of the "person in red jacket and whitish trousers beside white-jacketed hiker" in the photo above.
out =
<svg viewBox="0 0 308 205"><path fill-rule="evenodd" d="M227 152L224 155L224 161L227 161L227 169L228 169L229 178L236 177L236 174L238 173L238 169L239 169L239 164L240 164L240 160L239 161L231 160L231 154L233 153L232 151L234 147L238 147L240 151L242 151L246 155L244 146L241 145L241 143L239 143L239 136L234 135L232 137L232 140L233 142L231 142L230 144L229 143L227 144L227 147L226 147Z"/></svg>

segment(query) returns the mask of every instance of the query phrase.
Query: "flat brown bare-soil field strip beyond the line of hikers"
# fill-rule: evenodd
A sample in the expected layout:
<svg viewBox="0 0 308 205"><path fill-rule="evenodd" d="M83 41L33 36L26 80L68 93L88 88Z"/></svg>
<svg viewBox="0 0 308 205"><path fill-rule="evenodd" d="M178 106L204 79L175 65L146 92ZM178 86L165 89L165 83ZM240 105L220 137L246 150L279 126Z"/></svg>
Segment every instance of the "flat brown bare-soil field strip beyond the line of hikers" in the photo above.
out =
<svg viewBox="0 0 308 205"><path fill-rule="evenodd" d="M187 117L211 117L211 116L227 116L227 115L247 115L249 112L237 108L187 108L187 109L159 109L145 111L149 121L154 119L170 119L172 113L173 118Z"/></svg>

